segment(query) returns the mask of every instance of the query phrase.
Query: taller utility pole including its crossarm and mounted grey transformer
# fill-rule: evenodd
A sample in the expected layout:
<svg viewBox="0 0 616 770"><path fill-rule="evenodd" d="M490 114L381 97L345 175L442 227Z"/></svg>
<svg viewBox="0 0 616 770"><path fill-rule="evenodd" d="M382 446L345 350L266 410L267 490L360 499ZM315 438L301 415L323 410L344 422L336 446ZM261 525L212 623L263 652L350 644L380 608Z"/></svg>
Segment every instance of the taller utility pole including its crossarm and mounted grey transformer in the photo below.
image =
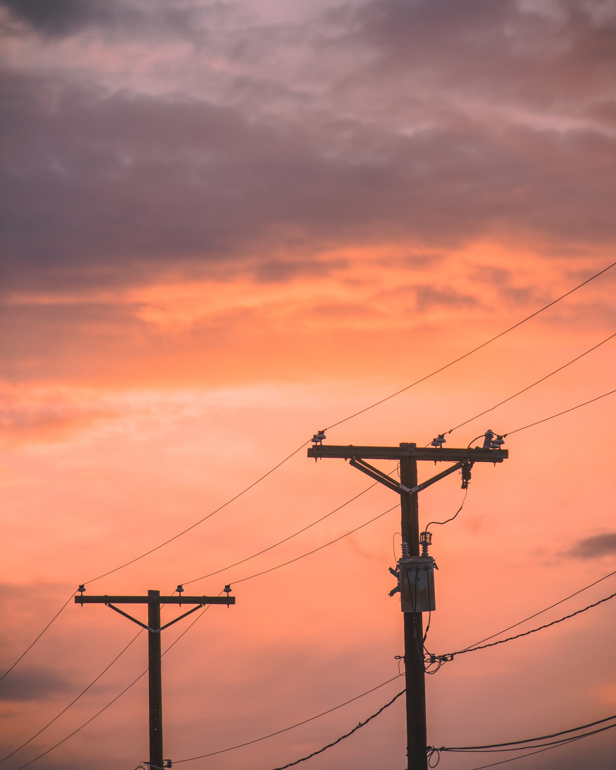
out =
<svg viewBox="0 0 616 770"><path fill-rule="evenodd" d="M470 469L474 463L502 463L509 456L501 449L502 437L491 430L484 435L483 447L474 449L444 449L443 435L434 439L430 447L417 447L416 444L400 444L399 447L354 447L323 446L325 433L320 430L313 437L313 447L308 450L308 457L315 460L323 457L337 457L350 460L350 465L361 470L367 476L380 481L386 487L400 494L402 511L403 557L393 572L398 577L398 588L390 595L400 591L401 607L404 618L404 671L407 690L407 757L408 770L427 770L427 735L426 735L426 685L423 653L423 618L422 611L434 610L434 559L427 555L430 533L419 530L419 505L417 495L431 484L460 470L462 488L466 489L470 480ZM400 484L366 460L397 460L400 463ZM417 461L450 462L454 465L441 471L422 484L417 483ZM423 553L420 555L420 540ZM412 582L411 582L412 581ZM430 589L431 587L431 589ZM431 591L431 592L430 592Z"/></svg>

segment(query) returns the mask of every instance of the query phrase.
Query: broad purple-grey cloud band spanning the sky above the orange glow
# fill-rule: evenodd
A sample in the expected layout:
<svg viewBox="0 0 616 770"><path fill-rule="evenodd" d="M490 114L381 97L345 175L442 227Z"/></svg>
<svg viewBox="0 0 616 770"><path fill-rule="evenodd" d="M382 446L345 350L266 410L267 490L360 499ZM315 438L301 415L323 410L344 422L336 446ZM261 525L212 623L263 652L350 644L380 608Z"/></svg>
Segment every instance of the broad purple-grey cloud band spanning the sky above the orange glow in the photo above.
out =
<svg viewBox="0 0 616 770"><path fill-rule="evenodd" d="M404 136L26 75L2 101L5 286L233 269L248 252L283 277L271 249L400 236L431 248L513 230L616 236L614 139L590 129L460 122Z"/></svg>

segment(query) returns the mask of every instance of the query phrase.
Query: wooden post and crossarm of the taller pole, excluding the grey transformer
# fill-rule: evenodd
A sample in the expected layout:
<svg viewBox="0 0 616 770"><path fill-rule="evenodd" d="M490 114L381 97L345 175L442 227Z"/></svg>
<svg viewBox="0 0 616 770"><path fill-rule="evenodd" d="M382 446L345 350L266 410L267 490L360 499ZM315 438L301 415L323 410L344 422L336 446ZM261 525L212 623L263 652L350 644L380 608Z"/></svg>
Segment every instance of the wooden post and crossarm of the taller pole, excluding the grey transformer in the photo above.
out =
<svg viewBox="0 0 616 770"><path fill-rule="evenodd" d="M507 450L500 449L501 437L496 437L491 430L485 434L484 447L474 449L444 449L444 437L439 436L430 447L417 447L416 444L400 444L399 447L354 447L328 446L320 442L325 438L323 430L313 438L315 446L308 450L308 457L322 459L337 457L350 460L350 464L380 481L386 487L400 494L402 511L402 540L408 547L408 557L420 556L419 506L417 495L438 480L454 473L462 472L462 487L465 489L470 479L470 469L474 463L502 463L508 457ZM497 448L490 448L497 447ZM382 470L373 467L366 460L398 460L400 463L400 484ZM436 476L417 483L417 461L430 460L453 462L454 465L441 471ZM402 571L400 570L400 574ZM416 588L417 590L417 588ZM417 601L417 597L414 601ZM434 601L434 597L432 598ZM420 611L404 611L404 671L407 689L407 757L408 770L427 770L427 731L426 731L426 686L425 664L423 655L423 621Z"/></svg>

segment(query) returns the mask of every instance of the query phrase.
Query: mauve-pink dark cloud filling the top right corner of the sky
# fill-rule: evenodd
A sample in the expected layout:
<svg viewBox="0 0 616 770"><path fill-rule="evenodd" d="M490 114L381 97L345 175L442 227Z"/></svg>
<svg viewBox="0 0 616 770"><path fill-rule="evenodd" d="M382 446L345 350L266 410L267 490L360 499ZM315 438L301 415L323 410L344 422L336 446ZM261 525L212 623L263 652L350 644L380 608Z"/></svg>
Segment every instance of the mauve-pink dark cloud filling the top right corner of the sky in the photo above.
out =
<svg viewBox="0 0 616 770"><path fill-rule="evenodd" d="M616 9L603 0L373 0L340 13L382 52L377 71L484 102L613 113L601 94L616 81Z"/></svg>

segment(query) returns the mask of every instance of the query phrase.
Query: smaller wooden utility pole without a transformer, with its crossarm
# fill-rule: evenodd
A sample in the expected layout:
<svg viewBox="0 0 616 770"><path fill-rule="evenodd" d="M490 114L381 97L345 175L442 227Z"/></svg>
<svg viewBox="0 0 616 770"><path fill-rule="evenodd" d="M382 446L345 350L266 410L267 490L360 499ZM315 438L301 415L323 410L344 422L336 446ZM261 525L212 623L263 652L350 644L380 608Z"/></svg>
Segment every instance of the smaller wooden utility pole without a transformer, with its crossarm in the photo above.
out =
<svg viewBox="0 0 616 770"><path fill-rule="evenodd" d="M178 596L161 596L160 591L148 591L147 596L84 596L83 585L79 586L81 595L75 596L75 604L105 604L107 607L129 618L129 621L136 623L148 631L148 675L149 675L149 770L162 770L170 768L171 760L162 758L162 672L160 666L160 634L170 625L186 618L187 615L196 612L206 604L235 604L234 596L229 596L231 588L225 586L226 596L184 596L183 588L179 585L176 591ZM123 610L114 607L114 604L147 604L148 605L148 624L138 621L132 615ZM178 618L166 623L160 624L160 605L161 604L196 604L192 610L184 612Z"/></svg>

